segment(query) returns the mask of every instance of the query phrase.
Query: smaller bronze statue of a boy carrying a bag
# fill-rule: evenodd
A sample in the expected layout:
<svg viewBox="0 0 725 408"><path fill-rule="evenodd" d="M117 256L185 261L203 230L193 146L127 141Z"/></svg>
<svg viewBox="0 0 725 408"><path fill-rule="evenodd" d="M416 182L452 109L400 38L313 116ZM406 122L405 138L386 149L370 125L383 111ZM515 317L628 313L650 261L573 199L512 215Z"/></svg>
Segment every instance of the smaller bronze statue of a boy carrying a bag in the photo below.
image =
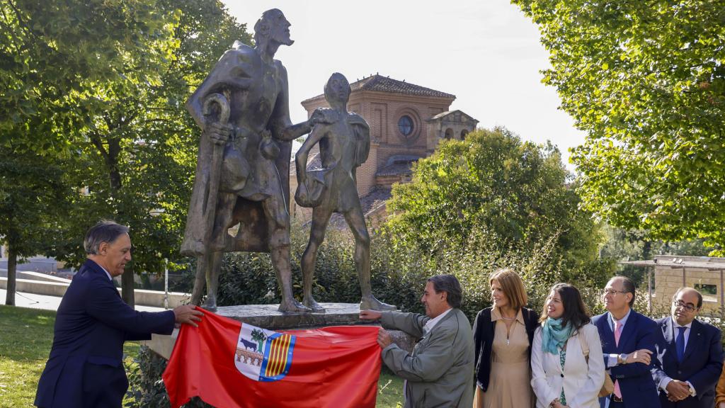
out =
<svg viewBox="0 0 725 408"><path fill-rule="evenodd" d="M395 309L378 301L370 287L370 234L355 183L355 169L368 160L370 126L360 115L347 112L349 96L347 78L340 73L332 74L325 86L325 98L331 109L315 110L311 118L315 127L295 155L298 187L294 198L299 205L312 207L310 241L302 254L302 303L317 312L325 309L312 298L312 274L318 247L334 212L344 215L355 237L355 269L363 294L360 310ZM307 155L318 143L323 168L308 172Z"/></svg>

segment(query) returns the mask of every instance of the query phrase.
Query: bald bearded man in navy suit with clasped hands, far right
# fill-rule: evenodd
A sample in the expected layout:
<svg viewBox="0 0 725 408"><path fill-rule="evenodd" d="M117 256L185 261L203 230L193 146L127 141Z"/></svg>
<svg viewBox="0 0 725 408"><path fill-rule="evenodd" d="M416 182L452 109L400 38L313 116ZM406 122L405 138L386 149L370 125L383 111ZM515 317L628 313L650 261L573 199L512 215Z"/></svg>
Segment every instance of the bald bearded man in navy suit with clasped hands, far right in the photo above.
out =
<svg viewBox="0 0 725 408"><path fill-rule="evenodd" d="M715 385L723 367L721 333L695 319L703 295L681 287L672 298L672 316L657 320L661 367L652 370L665 408L715 407Z"/></svg>

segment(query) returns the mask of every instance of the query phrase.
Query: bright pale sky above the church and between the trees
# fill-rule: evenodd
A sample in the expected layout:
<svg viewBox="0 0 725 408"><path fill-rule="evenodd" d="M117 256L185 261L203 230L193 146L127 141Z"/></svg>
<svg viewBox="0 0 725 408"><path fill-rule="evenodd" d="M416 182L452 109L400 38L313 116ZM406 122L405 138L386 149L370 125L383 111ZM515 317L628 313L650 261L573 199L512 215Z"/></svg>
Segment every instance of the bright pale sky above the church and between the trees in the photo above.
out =
<svg viewBox="0 0 725 408"><path fill-rule="evenodd" d="M292 24L294 45L275 57L289 74L294 123L307 118L299 102L321 94L331 73L351 83L379 73L454 94L450 109L479 127L551 140L565 162L584 142L558 110L555 89L541 83L539 71L550 65L537 27L508 0L223 1L249 33L266 9L281 9Z"/></svg>

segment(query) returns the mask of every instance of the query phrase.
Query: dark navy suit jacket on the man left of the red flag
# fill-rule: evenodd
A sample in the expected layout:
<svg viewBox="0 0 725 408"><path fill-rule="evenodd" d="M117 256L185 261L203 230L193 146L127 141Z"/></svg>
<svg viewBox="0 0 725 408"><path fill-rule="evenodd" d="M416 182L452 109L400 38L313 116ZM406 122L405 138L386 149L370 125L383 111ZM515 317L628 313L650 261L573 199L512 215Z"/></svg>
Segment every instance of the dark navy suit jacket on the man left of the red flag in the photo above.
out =
<svg viewBox="0 0 725 408"><path fill-rule="evenodd" d="M173 311L131 309L101 266L87 260L60 302L35 404L120 408L128 389L123 342L147 340L152 332L170 334L174 321Z"/></svg>

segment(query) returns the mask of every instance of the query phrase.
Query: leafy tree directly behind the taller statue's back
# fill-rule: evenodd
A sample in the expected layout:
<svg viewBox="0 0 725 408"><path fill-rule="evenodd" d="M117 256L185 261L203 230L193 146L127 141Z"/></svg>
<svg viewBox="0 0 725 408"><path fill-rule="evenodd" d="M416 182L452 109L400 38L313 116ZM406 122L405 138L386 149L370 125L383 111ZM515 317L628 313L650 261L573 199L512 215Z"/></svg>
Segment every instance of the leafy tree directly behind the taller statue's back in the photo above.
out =
<svg viewBox="0 0 725 408"><path fill-rule="evenodd" d="M133 262L123 274L122 287L124 300L133 304L133 272L161 272L164 258L178 259L199 143L184 102L234 40L250 43L251 38L216 0L88 1L74 7L17 1L25 13L22 20L37 27L36 36L48 44L66 36L82 44L93 42L92 36L75 36L72 23L92 35L97 26L113 30L103 31L101 38L109 50L83 46L78 55L67 56L99 59L100 65L112 67L112 76L91 75L86 82L73 83L72 98L59 100L66 104L63 118L72 118L75 126L60 135L57 121L49 125L51 140L62 139L78 152L65 171L86 190L70 197L72 207L63 217L53 253L77 266L85 258L79 237L88 227L99 219L128 224ZM48 63L30 61L40 71ZM79 76L74 68L58 68L57 76Z"/></svg>

